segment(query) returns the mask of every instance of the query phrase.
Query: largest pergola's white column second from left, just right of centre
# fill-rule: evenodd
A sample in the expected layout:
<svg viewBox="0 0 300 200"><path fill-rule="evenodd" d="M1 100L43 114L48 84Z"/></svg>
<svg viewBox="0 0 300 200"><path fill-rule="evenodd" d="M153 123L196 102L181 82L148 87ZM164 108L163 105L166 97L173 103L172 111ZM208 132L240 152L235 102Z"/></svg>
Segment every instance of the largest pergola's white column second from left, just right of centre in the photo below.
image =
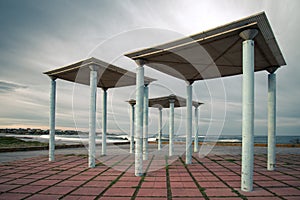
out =
<svg viewBox="0 0 300 200"><path fill-rule="evenodd" d="M192 163L192 127L193 127L193 116L192 116L192 86L193 82L188 82L186 87L187 98L186 98L186 160L185 164Z"/></svg>

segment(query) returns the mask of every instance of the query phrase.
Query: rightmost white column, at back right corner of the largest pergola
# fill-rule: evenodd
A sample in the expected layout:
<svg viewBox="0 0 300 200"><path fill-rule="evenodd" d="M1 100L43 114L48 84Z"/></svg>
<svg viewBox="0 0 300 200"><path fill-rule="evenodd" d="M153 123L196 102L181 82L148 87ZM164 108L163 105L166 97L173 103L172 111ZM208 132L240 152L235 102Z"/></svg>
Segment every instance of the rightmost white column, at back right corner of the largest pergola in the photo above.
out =
<svg viewBox="0 0 300 200"><path fill-rule="evenodd" d="M276 74L268 75L268 170L276 164Z"/></svg>

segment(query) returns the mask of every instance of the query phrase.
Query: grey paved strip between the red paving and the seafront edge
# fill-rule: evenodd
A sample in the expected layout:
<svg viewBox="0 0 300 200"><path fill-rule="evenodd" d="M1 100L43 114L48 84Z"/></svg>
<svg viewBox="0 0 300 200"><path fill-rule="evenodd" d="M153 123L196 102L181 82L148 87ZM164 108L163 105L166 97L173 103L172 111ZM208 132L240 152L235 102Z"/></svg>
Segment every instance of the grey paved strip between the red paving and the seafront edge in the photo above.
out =
<svg viewBox="0 0 300 200"><path fill-rule="evenodd" d="M97 145L96 157L97 159L104 159L102 157L101 147ZM21 150L21 149L20 149ZM109 156L128 156L129 154L129 144L125 145L108 145L107 152ZM185 153L185 145L177 145L176 147L176 156L184 155ZM157 150L156 144L149 144L149 153L151 155L167 155L168 146L164 145L161 151ZM205 157L208 155L231 155L238 156L242 153L241 146L220 146L220 145L203 145L199 147L199 152L195 153L200 157ZM255 147L254 154L255 155L267 155L268 150L266 147ZM88 155L88 148L86 146L80 147L76 146L75 148L71 148L71 146L66 146L65 148L56 148L55 155ZM276 155L298 155L300 154L300 148L286 148L286 147L278 147L276 148ZM26 149L26 151L11 151L11 152L1 152L0 153L0 163L10 162L14 160L21 160L24 158L32 158L38 156L48 156L48 149ZM134 155L132 155L134 156ZM175 156L175 155L174 155Z"/></svg>

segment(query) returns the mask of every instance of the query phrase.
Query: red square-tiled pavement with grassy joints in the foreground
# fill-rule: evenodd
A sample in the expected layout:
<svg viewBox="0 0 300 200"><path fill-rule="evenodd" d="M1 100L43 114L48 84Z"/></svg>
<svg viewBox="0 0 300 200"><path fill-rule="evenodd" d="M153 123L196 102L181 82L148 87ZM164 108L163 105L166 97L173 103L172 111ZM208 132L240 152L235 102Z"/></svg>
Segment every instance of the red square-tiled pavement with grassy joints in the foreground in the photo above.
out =
<svg viewBox="0 0 300 200"><path fill-rule="evenodd" d="M110 167L98 162L88 169L83 155L58 155L55 162L39 156L1 164L0 199L300 199L299 154L278 155L276 171L266 170L265 154L255 155L253 192L240 190L240 155L199 158L194 154L191 165L185 165L182 156L156 171L151 167L168 163L168 158L152 156L145 162L143 177L134 176L132 159L126 156L105 159L105 163L111 160Z"/></svg>

